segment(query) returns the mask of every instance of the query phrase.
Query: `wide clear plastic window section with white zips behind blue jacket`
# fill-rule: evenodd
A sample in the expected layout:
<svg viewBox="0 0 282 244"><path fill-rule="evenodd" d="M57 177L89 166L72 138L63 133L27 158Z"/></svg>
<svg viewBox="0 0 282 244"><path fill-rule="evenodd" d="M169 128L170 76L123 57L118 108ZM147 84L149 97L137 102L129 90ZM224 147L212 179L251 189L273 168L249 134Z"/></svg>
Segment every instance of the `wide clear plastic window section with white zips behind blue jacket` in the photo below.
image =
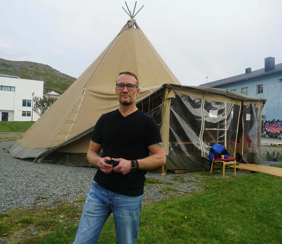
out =
<svg viewBox="0 0 282 244"><path fill-rule="evenodd" d="M169 155L204 156L214 144L235 153L240 106L176 93L171 99Z"/></svg>

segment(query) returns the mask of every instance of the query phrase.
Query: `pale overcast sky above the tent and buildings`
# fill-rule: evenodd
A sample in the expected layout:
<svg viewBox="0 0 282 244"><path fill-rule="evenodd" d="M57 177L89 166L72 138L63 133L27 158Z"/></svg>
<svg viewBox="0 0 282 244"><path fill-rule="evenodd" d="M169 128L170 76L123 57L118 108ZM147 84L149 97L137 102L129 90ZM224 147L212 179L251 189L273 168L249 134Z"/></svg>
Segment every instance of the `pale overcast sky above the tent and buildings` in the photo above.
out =
<svg viewBox="0 0 282 244"><path fill-rule="evenodd" d="M47 64L75 78L129 20L117 0L0 2L0 58ZM135 1L126 2L133 11ZM282 63L281 0L139 0L136 9L142 5L137 24L183 85L264 68L266 57Z"/></svg>

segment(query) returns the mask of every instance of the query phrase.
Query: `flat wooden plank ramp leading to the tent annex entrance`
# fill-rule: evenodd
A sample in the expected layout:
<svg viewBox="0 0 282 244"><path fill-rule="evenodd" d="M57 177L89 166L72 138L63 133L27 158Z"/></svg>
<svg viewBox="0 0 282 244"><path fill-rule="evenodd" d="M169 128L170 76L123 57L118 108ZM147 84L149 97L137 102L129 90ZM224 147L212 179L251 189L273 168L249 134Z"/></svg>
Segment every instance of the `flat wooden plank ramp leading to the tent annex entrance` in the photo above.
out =
<svg viewBox="0 0 282 244"><path fill-rule="evenodd" d="M230 168L234 168L234 166L230 166ZM244 171L252 171L252 172L262 172L266 174L271 174L274 176L278 176L282 178L282 168L264 166L259 164L239 164L236 165L236 169L244 170Z"/></svg>

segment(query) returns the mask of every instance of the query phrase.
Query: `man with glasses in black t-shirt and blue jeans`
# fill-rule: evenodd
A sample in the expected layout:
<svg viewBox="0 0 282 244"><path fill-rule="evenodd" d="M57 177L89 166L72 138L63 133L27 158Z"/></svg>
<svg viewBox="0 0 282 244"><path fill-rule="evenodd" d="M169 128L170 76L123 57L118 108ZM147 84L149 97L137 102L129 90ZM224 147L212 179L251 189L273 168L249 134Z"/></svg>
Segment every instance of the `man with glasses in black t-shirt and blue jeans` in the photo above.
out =
<svg viewBox="0 0 282 244"><path fill-rule="evenodd" d="M85 200L74 244L97 243L112 212L116 243L136 241L146 170L165 164L157 123L136 107L138 86L134 73L119 73L115 89L119 109L103 114L94 127L87 158L98 170Z"/></svg>

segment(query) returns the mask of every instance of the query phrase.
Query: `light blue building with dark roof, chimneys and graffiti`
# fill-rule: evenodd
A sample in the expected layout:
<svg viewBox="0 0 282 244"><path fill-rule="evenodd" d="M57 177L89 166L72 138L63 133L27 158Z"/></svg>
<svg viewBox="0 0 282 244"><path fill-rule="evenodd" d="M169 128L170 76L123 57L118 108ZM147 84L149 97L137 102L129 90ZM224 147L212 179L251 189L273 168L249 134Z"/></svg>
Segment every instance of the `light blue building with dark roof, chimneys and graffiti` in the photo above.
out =
<svg viewBox="0 0 282 244"><path fill-rule="evenodd" d="M274 57L264 59L264 68L245 74L201 84L232 92L267 99L262 109L262 133L265 137L282 139L282 64L275 65Z"/></svg>

